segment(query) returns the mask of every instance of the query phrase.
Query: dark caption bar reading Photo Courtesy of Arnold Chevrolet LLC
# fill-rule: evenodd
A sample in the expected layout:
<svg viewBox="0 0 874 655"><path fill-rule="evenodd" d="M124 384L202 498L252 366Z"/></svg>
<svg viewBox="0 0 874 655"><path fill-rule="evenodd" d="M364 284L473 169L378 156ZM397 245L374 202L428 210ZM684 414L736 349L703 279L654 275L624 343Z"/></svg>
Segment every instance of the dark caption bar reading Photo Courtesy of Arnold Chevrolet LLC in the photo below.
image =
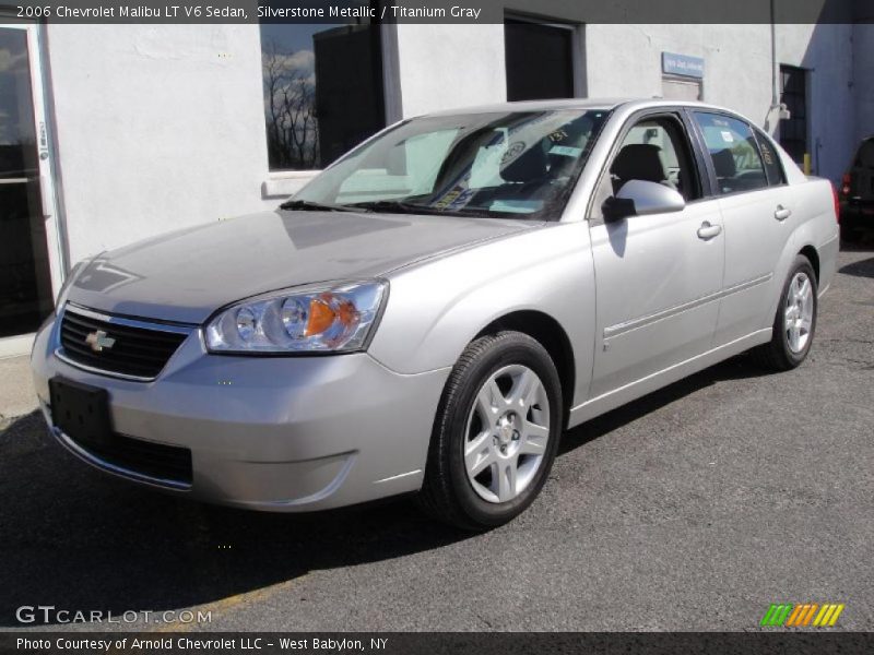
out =
<svg viewBox="0 0 874 655"><path fill-rule="evenodd" d="M3 632L0 654L529 655L612 654L823 655L871 653L874 634L819 630L646 633L282 633Z"/></svg>

